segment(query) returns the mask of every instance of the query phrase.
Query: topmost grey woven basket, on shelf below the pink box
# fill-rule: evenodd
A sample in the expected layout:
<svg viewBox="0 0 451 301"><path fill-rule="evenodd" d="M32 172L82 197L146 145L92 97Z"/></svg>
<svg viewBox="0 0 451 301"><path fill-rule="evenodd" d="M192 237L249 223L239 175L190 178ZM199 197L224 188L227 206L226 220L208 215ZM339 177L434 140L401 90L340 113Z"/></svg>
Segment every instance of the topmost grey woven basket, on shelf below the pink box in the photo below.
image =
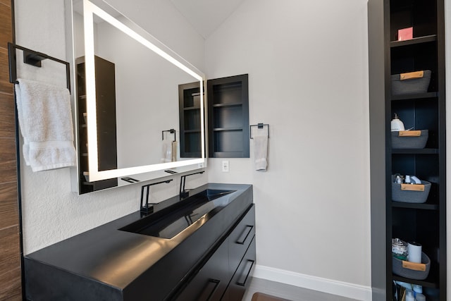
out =
<svg viewBox="0 0 451 301"><path fill-rule="evenodd" d="M409 78L407 80L401 80L401 75L404 74L410 73L393 74L391 76L392 95L428 92L429 82L431 82L431 70L424 70L422 78Z"/></svg>

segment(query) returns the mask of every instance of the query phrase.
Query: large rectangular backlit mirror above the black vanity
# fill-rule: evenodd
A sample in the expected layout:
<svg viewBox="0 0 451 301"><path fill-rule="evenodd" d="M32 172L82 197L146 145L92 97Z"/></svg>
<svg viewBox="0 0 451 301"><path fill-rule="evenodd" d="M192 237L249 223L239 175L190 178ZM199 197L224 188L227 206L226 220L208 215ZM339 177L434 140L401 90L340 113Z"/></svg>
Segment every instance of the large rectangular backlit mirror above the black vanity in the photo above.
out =
<svg viewBox="0 0 451 301"><path fill-rule="evenodd" d="M202 72L105 1L73 1L73 36L80 193L204 166ZM190 158L180 157L185 85L199 100Z"/></svg>

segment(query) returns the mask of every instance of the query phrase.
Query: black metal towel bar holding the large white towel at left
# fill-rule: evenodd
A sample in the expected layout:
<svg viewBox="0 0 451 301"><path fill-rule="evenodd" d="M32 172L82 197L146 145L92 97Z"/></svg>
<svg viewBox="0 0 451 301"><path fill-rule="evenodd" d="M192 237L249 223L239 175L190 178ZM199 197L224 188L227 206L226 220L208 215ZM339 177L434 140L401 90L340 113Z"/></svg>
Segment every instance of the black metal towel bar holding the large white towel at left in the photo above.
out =
<svg viewBox="0 0 451 301"><path fill-rule="evenodd" d="M66 81L68 90L70 92L70 63L10 42L8 42L9 82L11 82L12 84L17 83L17 60L15 49L20 49L23 51L24 63L35 67L41 67L41 61L44 59L49 59L51 61L56 61L58 63L63 63L64 65L66 65Z"/></svg>

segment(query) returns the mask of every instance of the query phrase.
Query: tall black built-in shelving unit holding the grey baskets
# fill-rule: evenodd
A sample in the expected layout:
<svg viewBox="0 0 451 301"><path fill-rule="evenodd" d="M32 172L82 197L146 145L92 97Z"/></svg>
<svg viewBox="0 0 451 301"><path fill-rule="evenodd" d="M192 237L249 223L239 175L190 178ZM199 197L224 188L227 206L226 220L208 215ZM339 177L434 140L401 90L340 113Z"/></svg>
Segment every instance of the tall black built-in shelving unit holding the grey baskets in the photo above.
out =
<svg viewBox="0 0 451 301"><path fill-rule="evenodd" d="M383 25L384 32L378 29ZM371 228L373 300L397 300L393 281L421 285L426 300L447 300L445 32L443 0L370 0ZM382 28L379 27L379 28ZM398 30L413 27L413 38L398 41ZM384 47L373 47L383 37ZM379 64L383 66L376 66ZM431 70L428 90L392 95L391 75ZM382 75L383 73L383 75ZM378 78L382 75L383 78ZM377 89L385 93L378 92ZM385 102L381 102L385 98ZM381 113L384 112L384 113ZM390 121L397 113L405 128L428 130L426 147L393 149ZM379 127L381 118L384 128ZM373 118L373 119L371 119ZM378 135L385 136L381 154ZM380 141L379 141L380 142ZM384 158L380 172L376 159ZM381 162L379 161L379 164ZM383 175L385 173L385 175ZM414 175L431 183L424 203L395 202L392 175ZM385 180L380 177L384 176ZM377 178L376 178L377 177ZM385 229L385 235L380 235ZM431 259L423 280L393 273L392 238L419 242ZM384 246L385 251L378 247ZM377 252L385 254L377 254Z"/></svg>

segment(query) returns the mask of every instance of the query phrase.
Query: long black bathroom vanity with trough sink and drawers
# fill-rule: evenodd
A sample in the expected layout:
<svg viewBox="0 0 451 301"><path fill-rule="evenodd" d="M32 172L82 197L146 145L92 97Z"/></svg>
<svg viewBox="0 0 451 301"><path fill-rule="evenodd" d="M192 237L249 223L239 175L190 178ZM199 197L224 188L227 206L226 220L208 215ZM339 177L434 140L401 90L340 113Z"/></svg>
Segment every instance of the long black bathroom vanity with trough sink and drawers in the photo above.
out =
<svg viewBox="0 0 451 301"><path fill-rule="evenodd" d="M252 185L209 183L25 256L27 300L241 300Z"/></svg>

